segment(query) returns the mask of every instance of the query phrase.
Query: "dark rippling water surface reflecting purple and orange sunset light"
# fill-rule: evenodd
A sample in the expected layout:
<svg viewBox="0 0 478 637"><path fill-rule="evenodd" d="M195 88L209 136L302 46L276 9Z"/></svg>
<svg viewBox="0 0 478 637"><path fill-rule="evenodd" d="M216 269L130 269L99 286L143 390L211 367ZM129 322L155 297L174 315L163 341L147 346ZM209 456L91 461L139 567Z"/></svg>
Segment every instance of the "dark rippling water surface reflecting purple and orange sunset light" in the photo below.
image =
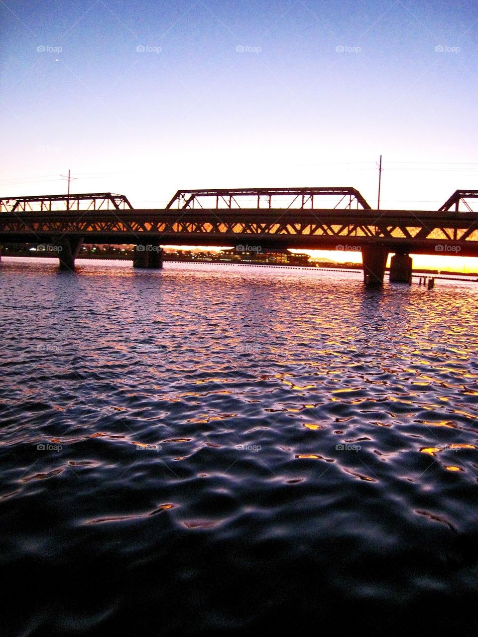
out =
<svg viewBox="0 0 478 637"><path fill-rule="evenodd" d="M0 264L3 635L477 634L478 286Z"/></svg>

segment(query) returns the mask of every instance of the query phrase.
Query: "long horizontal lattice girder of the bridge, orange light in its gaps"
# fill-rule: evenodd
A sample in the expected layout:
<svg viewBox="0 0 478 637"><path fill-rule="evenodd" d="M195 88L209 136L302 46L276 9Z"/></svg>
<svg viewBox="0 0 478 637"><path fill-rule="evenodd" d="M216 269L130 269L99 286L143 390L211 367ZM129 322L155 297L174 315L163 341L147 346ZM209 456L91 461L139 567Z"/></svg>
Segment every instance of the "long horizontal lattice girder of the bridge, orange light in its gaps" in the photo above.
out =
<svg viewBox="0 0 478 637"><path fill-rule="evenodd" d="M78 217L66 212L0 213L0 237L81 234L108 236L113 243L137 243L167 237L171 243L227 245L238 237L263 241L277 238L281 245L303 247L322 240L391 241L411 246L423 243L465 242L478 247L478 213L367 210L124 210L83 211ZM175 240L175 237L178 240ZM316 241L315 241L316 240ZM165 241L163 241L165 243ZM446 250L445 250L446 251Z"/></svg>

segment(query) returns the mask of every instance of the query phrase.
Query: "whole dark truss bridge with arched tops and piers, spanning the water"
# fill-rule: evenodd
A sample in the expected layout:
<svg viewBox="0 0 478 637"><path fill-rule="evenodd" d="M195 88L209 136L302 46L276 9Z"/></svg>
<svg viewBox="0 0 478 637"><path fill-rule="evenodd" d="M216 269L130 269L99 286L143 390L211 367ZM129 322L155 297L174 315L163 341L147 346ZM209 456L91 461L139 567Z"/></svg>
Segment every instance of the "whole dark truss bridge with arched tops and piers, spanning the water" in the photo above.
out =
<svg viewBox="0 0 478 637"><path fill-rule="evenodd" d="M178 190L165 208L136 209L111 192L0 199L0 244L38 243L74 269L81 243L136 245L136 268L162 268L165 245L238 251L361 252L366 285L409 283L410 254L478 256L478 190L456 190L438 211L374 210L352 187Z"/></svg>

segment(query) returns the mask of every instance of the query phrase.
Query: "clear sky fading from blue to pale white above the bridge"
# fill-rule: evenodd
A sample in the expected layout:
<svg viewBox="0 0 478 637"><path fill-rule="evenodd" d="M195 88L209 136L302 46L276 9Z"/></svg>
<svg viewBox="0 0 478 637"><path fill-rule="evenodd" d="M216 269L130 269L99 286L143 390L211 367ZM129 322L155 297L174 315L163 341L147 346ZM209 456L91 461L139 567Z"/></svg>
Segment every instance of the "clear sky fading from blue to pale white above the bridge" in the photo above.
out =
<svg viewBox="0 0 478 637"><path fill-rule="evenodd" d="M71 168L73 192L138 208L307 185L376 206L381 154L382 208L478 187L476 2L0 0L0 16L2 196L65 192Z"/></svg>

